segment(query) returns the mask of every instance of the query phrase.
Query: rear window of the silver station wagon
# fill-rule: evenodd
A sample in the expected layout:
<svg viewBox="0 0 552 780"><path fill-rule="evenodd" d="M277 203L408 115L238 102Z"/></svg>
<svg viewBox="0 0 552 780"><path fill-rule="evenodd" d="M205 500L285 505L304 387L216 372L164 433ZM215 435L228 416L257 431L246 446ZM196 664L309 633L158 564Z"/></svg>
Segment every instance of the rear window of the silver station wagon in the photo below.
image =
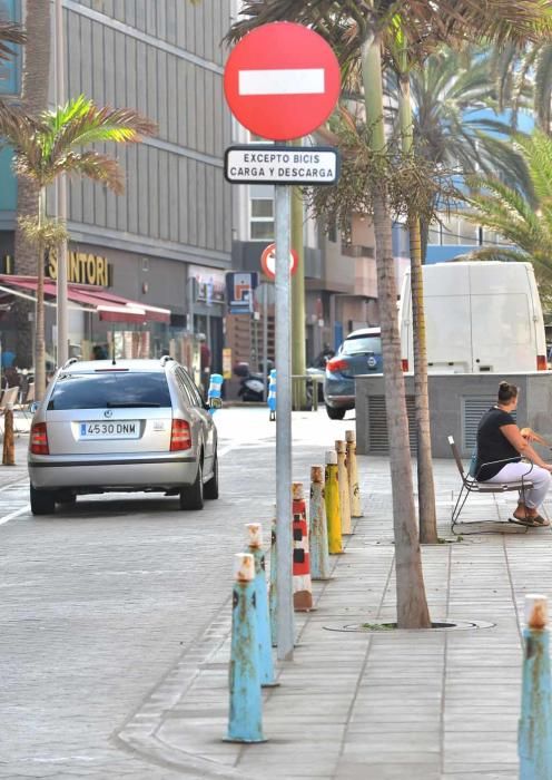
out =
<svg viewBox="0 0 552 780"><path fill-rule="evenodd" d="M61 373L48 402L50 410L170 406L165 373L138 371Z"/></svg>

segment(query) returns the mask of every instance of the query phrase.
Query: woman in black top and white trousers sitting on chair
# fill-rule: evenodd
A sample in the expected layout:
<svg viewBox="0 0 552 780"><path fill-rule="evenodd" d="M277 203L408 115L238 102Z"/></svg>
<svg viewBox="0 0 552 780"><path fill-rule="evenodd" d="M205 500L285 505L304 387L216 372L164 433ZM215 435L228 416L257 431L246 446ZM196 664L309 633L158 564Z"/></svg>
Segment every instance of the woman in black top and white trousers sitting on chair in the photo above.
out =
<svg viewBox="0 0 552 780"><path fill-rule="evenodd" d="M522 436L511 412L518 407L518 388L509 382L499 386L499 399L485 412L477 428L477 462L475 476L481 482L515 482L526 477L532 488L523 490L511 520L524 526L548 526L539 515L551 482L552 464L546 464L531 447L536 437L532 431ZM532 467L522 462L522 457Z"/></svg>

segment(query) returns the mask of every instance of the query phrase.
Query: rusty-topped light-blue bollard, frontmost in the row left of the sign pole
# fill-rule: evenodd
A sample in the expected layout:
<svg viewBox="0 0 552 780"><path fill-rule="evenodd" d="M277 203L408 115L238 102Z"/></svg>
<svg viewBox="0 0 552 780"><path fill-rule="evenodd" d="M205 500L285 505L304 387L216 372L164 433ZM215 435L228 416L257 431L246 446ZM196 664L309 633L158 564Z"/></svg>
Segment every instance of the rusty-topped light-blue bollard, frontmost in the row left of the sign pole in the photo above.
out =
<svg viewBox="0 0 552 780"><path fill-rule="evenodd" d="M231 601L231 650L229 669L230 709L227 742L266 742L263 734L263 694L258 669L255 559L234 556Z"/></svg>

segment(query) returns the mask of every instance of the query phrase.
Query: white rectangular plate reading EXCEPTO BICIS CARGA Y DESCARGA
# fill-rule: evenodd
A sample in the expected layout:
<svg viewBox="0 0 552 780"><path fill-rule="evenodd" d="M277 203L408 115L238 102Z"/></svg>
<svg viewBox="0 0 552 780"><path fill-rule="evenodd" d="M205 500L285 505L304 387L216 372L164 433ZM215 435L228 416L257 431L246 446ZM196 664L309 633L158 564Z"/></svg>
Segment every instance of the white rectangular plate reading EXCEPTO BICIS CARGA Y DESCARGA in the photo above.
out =
<svg viewBox="0 0 552 780"><path fill-rule="evenodd" d="M335 184L339 157L326 146L230 146L225 176L233 184Z"/></svg>

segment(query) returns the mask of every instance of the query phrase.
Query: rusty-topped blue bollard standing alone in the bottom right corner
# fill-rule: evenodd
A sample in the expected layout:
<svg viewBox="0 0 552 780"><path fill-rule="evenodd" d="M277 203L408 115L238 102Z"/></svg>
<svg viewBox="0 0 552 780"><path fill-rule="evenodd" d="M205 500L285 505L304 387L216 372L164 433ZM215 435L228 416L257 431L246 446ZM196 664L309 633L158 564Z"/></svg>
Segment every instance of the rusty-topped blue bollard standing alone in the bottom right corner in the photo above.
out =
<svg viewBox="0 0 552 780"><path fill-rule="evenodd" d="M523 683L518 731L520 780L552 778L552 685L546 596L525 596Z"/></svg>

